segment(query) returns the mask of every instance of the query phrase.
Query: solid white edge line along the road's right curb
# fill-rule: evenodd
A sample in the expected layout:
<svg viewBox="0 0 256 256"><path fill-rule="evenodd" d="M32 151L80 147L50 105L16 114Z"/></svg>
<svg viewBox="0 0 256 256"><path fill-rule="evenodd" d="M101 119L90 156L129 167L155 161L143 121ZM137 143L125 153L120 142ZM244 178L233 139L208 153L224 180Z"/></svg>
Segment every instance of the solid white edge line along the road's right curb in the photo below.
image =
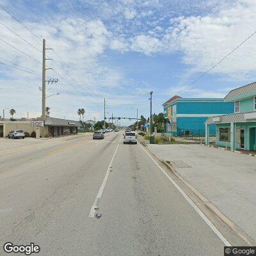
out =
<svg viewBox="0 0 256 256"><path fill-rule="evenodd" d="M140 143L139 143L140 144ZM182 196L188 201L188 203L195 209L198 215L205 221L205 223L211 228L211 230L220 238L220 240L225 244L225 246L232 246L227 239L221 234L220 230L218 230L212 222L205 216L205 214L198 208L198 206L186 195L186 193L180 188L180 186L163 170L163 168L157 163L157 161L150 156L150 154L143 148L140 144L140 147L148 154L148 156L154 161L157 167L164 173L164 175L172 182L172 184L179 190Z"/></svg>

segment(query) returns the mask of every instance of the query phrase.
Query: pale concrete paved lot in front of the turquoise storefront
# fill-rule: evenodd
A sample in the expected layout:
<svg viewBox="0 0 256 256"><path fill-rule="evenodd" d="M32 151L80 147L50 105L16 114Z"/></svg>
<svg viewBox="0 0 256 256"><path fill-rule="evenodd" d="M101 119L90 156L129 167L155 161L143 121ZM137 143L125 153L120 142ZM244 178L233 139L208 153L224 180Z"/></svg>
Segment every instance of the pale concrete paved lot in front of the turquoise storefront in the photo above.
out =
<svg viewBox="0 0 256 256"><path fill-rule="evenodd" d="M148 145L256 241L256 158L205 145Z"/></svg>

